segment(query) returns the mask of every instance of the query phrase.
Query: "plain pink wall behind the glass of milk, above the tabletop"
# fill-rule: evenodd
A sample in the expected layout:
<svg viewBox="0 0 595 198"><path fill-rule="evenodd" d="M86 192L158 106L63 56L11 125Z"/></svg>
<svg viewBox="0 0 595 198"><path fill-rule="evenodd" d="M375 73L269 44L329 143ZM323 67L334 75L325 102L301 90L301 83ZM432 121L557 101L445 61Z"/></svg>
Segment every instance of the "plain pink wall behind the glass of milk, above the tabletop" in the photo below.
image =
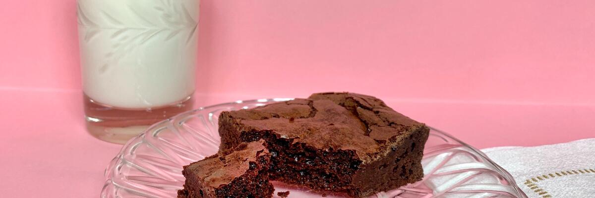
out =
<svg viewBox="0 0 595 198"><path fill-rule="evenodd" d="M2 89L80 89L75 1L5 2ZM594 1L201 5L199 94L595 103Z"/></svg>

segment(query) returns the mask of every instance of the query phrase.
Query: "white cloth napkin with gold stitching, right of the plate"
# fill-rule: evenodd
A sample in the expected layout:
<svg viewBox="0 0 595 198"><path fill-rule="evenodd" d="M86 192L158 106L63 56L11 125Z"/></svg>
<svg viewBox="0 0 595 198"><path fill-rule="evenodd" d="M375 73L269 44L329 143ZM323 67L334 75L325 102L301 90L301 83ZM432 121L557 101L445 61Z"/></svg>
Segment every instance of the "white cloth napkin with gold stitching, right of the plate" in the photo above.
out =
<svg viewBox="0 0 595 198"><path fill-rule="evenodd" d="M483 150L530 198L595 197L595 139Z"/></svg>

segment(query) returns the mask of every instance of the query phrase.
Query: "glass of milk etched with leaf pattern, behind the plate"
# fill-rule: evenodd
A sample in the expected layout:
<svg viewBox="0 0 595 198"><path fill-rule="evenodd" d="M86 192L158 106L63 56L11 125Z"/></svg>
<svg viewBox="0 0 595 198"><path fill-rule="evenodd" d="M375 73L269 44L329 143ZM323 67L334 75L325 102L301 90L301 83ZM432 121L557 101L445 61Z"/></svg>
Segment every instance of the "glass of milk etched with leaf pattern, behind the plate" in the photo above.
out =
<svg viewBox="0 0 595 198"><path fill-rule="evenodd" d="M198 0L78 0L87 129L126 143L192 109Z"/></svg>

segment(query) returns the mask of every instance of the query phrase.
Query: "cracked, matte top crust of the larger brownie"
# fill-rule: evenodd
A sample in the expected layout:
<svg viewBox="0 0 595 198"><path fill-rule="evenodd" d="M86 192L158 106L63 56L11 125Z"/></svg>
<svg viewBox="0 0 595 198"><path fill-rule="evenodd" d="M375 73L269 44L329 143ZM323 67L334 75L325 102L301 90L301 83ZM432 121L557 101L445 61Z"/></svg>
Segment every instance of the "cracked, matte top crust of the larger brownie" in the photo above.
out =
<svg viewBox="0 0 595 198"><path fill-rule="evenodd" d="M354 93L317 93L229 114L246 127L273 130L294 142L353 150L363 164L390 150L401 134L425 127L380 99Z"/></svg>

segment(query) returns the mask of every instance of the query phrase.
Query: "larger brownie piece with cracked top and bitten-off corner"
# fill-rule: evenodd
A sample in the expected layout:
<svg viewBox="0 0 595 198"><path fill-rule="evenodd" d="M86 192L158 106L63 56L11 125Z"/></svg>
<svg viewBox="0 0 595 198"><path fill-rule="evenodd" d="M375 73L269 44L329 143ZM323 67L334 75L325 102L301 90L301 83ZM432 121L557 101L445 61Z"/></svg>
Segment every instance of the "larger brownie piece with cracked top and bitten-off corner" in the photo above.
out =
<svg viewBox="0 0 595 198"><path fill-rule="evenodd" d="M356 93L222 112L221 150L264 139L270 179L368 197L421 180L429 128Z"/></svg>

